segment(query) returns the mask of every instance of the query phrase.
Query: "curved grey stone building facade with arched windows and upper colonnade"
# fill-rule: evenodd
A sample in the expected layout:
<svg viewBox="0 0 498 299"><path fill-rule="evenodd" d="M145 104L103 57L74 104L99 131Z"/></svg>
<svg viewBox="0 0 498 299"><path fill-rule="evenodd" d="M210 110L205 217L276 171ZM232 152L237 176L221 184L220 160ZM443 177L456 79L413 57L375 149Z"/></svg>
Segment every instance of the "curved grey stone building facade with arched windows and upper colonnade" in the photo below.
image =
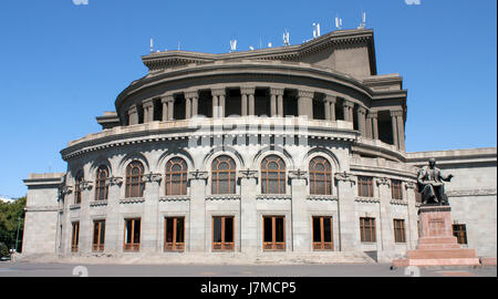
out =
<svg viewBox="0 0 498 299"><path fill-rule="evenodd" d="M376 74L374 53L371 30L345 30L294 47L143 56L149 73L117 96L116 112L97 117L103 131L61 151L68 172L24 181L23 252L162 254L165 221L177 217L180 251L215 254L215 218L229 217L232 231L225 238L231 236L227 250L234 252L264 255L274 246L312 255L325 249L315 243L324 246L326 236L331 251L374 252L384 261L405 255L418 239L418 164L416 153L405 153L407 92L397 74ZM234 163L228 181L215 171L220 157ZM279 178L263 169L269 157L283 165ZM185 163L176 183L167 171L172 161ZM312 168L317 161L329 168ZM142 165L137 175L135 164ZM495 203L489 217L496 225L496 176L481 183L479 189L495 188L488 204ZM172 192L173 184L184 192ZM219 192L220 184L230 190ZM268 244L264 230L276 227L276 217L283 219L283 239L274 241L280 233L272 228ZM330 219L330 230L317 217ZM126 221L138 218L134 230ZM363 218L373 226L362 228ZM394 219L403 223L401 239ZM102 220L100 244L95 224ZM139 231L138 246L129 231ZM494 231L495 247L483 255L496 256ZM470 239L487 244L469 233Z"/></svg>

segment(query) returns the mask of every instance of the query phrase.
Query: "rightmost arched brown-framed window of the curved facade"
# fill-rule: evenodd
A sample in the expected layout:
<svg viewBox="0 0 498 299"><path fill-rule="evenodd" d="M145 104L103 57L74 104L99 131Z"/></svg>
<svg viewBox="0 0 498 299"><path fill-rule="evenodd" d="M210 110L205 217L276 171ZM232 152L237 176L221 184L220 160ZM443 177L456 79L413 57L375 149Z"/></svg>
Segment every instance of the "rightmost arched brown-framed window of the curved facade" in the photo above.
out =
<svg viewBox="0 0 498 299"><path fill-rule="evenodd" d="M324 157L310 161L310 194L332 195L332 168Z"/></svg>

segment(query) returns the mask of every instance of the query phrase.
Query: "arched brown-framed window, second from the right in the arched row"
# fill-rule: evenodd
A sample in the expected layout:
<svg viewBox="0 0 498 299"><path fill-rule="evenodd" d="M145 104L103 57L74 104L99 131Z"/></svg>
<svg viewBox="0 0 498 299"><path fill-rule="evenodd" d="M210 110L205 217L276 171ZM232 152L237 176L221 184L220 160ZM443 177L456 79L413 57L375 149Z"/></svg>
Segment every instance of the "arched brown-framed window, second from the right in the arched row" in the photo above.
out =
<svg viewBox="0 0 498 299"><path fill-rule="evenodd" d="M261 161L261 193L286 194L286 163L277 155Z"/></svg>

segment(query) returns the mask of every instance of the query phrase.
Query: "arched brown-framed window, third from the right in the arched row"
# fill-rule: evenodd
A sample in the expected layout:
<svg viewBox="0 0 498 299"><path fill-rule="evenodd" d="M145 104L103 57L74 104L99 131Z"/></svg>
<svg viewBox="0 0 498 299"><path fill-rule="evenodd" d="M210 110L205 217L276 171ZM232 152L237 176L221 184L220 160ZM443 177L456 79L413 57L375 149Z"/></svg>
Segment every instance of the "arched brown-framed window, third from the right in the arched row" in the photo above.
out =
<svg viewBox="0 0 498 299"><path fill-rule="evenodd" d="M211 194L236 193L236 164L227 156L219 156L211 163Z"/></svg>

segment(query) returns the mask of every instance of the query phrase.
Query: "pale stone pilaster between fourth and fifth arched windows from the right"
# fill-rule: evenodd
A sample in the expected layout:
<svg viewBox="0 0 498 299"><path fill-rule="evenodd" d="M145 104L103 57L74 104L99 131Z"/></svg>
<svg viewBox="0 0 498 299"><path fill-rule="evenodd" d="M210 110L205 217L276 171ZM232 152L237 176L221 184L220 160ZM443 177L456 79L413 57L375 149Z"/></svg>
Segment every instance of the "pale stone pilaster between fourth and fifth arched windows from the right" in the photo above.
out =
<svg viewBox="0 0 498 299"><path fill-rule="evenodd" d="M141 251L142 252L157 252L159 245L158 228L158 207L159 207L159 184L162 174L145 174L145 190L144 190L144 214L142 217L142 233L141 233Z"/></svg>

